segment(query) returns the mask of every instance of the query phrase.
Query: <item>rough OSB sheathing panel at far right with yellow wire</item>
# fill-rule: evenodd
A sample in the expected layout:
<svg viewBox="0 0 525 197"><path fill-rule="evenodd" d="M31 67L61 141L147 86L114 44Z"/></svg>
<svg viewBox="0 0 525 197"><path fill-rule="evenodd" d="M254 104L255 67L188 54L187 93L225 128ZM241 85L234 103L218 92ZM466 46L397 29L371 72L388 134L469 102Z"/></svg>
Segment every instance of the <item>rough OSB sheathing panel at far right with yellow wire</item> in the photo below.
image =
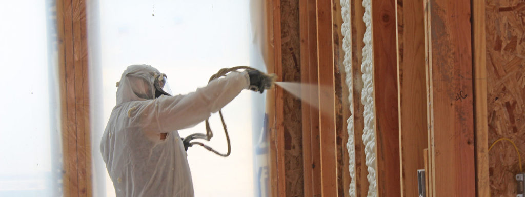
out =
<svg viewBox="0 0 525 197"><path fill-rule="evenodd" d="M525 2L486 1L489 143L510 138L525 151ZM522 154L523 156L523 154ZM507 141L489 152L490 193L516 196L518 156Z"/></svg>

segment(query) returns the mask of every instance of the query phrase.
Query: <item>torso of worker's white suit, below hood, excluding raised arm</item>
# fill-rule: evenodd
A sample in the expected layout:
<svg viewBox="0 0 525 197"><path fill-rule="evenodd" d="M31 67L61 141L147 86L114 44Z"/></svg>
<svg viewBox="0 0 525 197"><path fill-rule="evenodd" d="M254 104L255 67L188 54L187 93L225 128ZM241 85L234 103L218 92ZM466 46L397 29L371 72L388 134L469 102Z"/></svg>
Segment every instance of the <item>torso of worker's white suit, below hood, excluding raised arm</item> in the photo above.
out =
<svg viewBox="0 0 525 197"><path fill-rule="evenodd" d="M178 132L170 132L161 140L128 117L140 116L132 113L140 111L142 103L152 101L131 101L115 107L104 131L100 150L117 196L193 196Z"/></svg>

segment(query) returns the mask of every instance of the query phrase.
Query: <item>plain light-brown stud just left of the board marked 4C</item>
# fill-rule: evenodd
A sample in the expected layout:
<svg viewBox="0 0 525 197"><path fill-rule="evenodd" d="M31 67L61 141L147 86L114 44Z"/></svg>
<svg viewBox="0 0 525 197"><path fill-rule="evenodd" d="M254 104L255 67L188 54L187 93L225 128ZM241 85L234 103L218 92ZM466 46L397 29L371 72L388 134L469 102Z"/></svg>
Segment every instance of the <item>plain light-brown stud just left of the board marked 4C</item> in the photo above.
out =
<svg viewBox="0 0 525 197"><path fill-rule="evenodd" d="M397 86L401 196L417 196L427 148L425 36L422 0L397 0Z"/></svg>

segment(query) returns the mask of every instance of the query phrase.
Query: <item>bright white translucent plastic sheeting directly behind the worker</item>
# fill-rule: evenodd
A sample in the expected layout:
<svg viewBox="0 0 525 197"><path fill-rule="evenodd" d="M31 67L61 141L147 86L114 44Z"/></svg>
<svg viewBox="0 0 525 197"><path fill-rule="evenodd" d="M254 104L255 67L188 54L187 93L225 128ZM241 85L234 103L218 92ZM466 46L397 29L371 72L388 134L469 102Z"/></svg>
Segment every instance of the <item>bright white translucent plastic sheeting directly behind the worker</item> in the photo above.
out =
<svg viewBox="0 0 525 197"><path fill-rule="evenodd" d="M93 85L90 85L92 152L100 152L99 139L109 111L115 105L115 82L128 65L151 64L160 69L168 76L174 94L186 94L205 86L220 68L257 67L251 64L248 53L253 41L248 36L248 3L90 1L87 25ZM251 132L251 128L256 127L252 127L251 107L264 105L252 101L254 97L264 102L264 95L245 90L223 109L232 140L232 155L220 158L202 147L188 149L196 196L253 195L256 178L252 172L256 170L251 139L258 136ZM215 136L207 144L224 151L226 141L218 115L212 115L210 125ZM204 133L204 123L181 130L180 134L184 137L195 132ZM113 185L106 177L103 161L95 156L93 154L93 195L112 196Z"/></svg>

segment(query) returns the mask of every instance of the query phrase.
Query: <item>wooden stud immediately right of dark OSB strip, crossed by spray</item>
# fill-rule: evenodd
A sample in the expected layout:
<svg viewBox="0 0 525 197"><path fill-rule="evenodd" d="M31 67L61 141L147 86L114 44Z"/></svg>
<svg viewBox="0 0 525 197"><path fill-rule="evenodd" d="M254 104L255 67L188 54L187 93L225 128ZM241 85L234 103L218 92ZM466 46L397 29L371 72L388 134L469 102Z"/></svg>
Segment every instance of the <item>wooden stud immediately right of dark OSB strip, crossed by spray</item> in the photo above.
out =
<svg viewBox="0 0 525 197"><path fill-rule="evenodd" d="M317 23L316 2L299 1L299 37L301 40L301 82L317 84ZM313 103L318 101L318 88L302 86L303 98ZM321 195L320 150L319 150L319 110L302 102L302 144L303 144L303 194ZM317 166L316 166L317 164Z"/></svg>

